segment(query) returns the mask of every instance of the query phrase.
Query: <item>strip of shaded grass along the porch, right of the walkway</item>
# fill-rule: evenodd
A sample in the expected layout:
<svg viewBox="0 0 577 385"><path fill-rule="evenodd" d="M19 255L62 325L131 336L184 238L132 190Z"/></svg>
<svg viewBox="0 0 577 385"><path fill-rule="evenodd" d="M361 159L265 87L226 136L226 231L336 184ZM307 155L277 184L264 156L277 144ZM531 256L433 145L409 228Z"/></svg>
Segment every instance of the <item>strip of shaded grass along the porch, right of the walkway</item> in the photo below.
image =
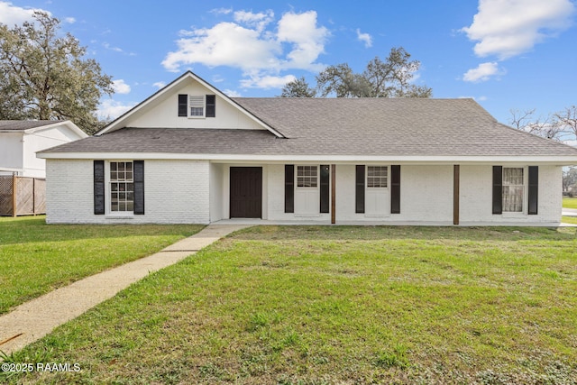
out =
<svg viewBox="0 0 577 385"><path fill-rule="evenodd" d="M260 225L231 235L239 240L435 240L577 241L574 227Z"/></svg>

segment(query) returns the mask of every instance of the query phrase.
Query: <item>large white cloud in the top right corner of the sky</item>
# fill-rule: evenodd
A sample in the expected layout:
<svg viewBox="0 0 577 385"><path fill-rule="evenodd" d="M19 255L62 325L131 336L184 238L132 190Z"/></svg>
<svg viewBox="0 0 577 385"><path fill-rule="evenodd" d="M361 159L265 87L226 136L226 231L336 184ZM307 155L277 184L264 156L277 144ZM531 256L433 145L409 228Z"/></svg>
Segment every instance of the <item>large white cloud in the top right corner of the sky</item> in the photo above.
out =
<svg viewBox="0 0 577 385"><path fill-rule="evenodd" d="M480 0L473 23L461 31L478 41L477 56L505 60L568 28L574 11L571 0Z"/></svg>

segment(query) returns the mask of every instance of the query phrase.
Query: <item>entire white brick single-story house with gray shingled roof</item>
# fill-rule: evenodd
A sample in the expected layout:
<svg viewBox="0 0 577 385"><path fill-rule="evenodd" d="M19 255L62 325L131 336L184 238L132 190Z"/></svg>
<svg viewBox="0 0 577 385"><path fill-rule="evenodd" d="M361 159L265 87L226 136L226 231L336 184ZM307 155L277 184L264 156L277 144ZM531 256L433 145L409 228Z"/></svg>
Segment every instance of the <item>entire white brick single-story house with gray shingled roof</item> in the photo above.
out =
<svg viewBox="0 0 577 385"><path fill-rule="evenodd" d="M554 225L577 149L472 99L231 98L187 72L41 151L49 223Z"/></svg>

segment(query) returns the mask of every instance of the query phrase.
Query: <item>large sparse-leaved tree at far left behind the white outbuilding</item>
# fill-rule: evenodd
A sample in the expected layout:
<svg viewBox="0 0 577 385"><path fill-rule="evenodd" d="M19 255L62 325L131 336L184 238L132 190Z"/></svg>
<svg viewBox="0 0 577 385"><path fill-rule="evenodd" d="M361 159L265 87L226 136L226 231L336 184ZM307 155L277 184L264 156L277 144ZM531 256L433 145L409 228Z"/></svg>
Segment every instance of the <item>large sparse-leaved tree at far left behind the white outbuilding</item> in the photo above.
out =
<svg viewBox="0 0 577 385"><path fill-rule="evenodd" d="M60 20L44 12L10 29L0 24L0 119L71 120L87 133L99 127L98 101L112 78Z"/></svg>

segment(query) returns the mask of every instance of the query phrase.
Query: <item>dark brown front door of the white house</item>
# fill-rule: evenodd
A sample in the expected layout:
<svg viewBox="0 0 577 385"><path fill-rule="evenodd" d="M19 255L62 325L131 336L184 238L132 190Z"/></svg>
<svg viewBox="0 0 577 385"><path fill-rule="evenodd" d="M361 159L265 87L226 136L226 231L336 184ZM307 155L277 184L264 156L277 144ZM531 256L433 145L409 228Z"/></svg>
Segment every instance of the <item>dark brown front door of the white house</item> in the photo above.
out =
<svg viewBox="0 0 577 385"><path fill-rule="evenodd" d="M262 217L262 168L231 167L231 218Z"/></svg>

